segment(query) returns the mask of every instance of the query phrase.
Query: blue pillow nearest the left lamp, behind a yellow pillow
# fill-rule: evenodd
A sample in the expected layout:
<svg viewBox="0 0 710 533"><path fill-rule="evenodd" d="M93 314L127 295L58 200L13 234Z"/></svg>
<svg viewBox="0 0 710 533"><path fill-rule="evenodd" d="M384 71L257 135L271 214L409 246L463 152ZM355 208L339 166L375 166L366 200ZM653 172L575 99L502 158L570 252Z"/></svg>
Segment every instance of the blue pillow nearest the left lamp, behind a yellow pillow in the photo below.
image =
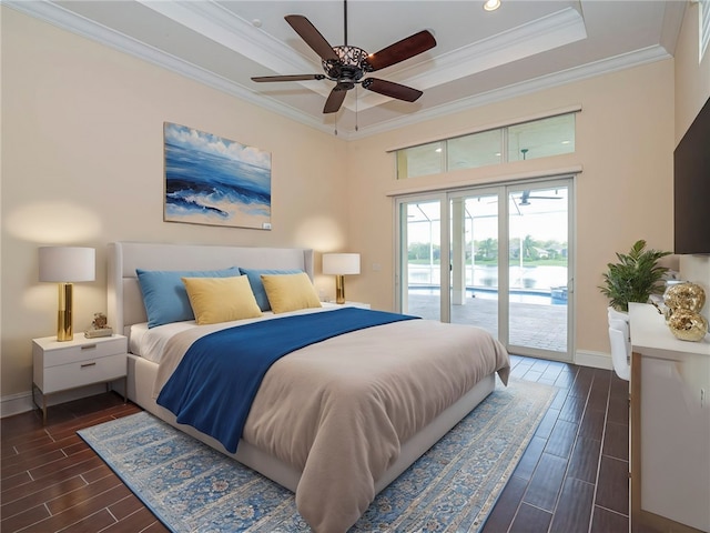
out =
<svg viewBox="0 0 710 533"><path fill-rule="evenodd" d="M142 270L135 269L138 282L143 293L143 304L148 314L148 326L194 320L187 291L182 278L231 278L240 274L232 266L224 270Z"/></svg>

